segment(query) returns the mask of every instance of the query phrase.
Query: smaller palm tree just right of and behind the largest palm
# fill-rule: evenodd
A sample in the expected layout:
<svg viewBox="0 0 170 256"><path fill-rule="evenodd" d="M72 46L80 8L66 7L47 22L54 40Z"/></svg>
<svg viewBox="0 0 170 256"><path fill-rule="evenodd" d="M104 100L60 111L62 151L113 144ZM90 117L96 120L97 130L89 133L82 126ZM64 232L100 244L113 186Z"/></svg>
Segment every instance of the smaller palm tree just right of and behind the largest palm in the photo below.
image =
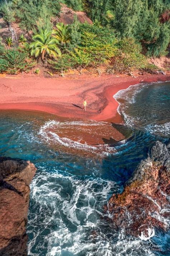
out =
<svg viewBox="0 0 170 256"><path fill-rule="evenodd" d="M57 30L53 31L55 37L60 44L63 46L71 41L71 30L69 25L65 25L63 23L58 23L56 25Z"/></svg>

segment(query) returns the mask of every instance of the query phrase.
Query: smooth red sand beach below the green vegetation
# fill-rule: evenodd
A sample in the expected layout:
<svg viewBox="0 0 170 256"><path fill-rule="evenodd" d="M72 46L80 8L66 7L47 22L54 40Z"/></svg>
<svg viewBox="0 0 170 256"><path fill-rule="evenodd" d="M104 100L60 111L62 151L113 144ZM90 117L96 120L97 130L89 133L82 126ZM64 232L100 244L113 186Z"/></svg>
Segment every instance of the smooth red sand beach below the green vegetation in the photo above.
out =
<svg viewBox="0 0 170 256"><path fill-rule="evenodd" d="M74 78L44 78L6 76L0 78L0 109L43 111L63 117L88 118L121 122L118 103L113 95L139 82L170 80L170 75L75 76ZM83 100L88 103L82 111ZM75 105L73 105L75 104ZM78 107L77 107L77 106ZM81 108L80 108L81 107Z"/></svg>

